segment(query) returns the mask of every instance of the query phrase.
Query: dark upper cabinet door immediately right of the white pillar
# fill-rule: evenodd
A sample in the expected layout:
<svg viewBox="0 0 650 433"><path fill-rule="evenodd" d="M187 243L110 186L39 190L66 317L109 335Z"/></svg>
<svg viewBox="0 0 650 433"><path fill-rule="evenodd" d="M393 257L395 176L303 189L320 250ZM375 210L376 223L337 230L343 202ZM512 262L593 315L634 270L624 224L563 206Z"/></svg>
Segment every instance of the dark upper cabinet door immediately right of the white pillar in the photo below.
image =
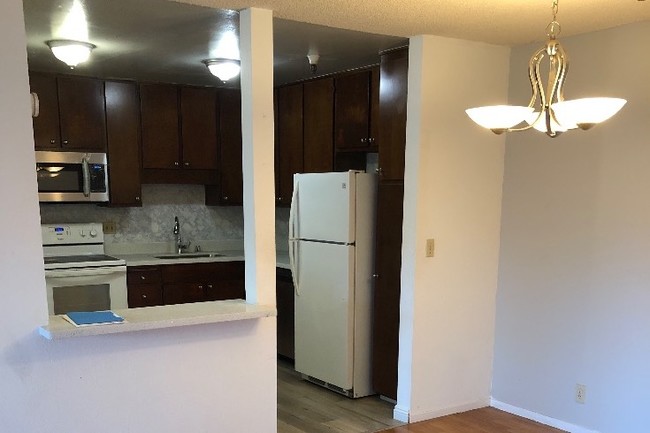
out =
<svg viewBox="0 0 650 433"><path fill-rule="evenodd" d="M302 84L278 89L279 204L291 204L293 175L303 171Z"/></svg>

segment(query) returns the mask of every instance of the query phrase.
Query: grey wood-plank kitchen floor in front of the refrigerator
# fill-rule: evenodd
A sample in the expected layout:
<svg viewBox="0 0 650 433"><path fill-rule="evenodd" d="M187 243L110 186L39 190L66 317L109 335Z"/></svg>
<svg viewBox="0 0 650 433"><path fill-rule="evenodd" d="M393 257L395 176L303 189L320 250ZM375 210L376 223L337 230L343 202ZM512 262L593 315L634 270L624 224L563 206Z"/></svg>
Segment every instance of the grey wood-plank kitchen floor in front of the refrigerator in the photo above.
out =
<svg viewBox="0 0 650 433"><path fill-rule="evenodd" d="M350 399L304 381L278 360L278 433L374 433L403 425L377 396Z"/></svg>

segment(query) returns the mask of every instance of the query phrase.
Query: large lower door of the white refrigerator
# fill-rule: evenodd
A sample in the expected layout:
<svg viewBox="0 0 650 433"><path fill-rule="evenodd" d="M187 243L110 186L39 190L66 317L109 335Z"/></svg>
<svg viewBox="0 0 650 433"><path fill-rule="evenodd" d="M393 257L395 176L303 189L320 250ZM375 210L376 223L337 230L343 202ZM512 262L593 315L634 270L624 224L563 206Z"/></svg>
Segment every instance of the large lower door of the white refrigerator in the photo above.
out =
<svg viewBox="0 0 650 433"><path fill-rule="evenodd" d="M296 371L353 387L354 246L299 241Z"/></svg>

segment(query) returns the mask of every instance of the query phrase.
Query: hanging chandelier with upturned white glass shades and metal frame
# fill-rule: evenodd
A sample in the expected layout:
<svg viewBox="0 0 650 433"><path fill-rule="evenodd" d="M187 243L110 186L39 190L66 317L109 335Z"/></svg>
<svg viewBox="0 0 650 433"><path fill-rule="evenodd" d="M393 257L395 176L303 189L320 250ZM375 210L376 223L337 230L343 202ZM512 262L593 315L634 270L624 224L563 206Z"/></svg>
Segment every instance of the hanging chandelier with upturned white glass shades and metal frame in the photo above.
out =
<svg viewBox="0 0 650 433"><path fill-rule="evenodd" d="M612 117L627 102L620 98L564 100L564 80L569 60L556 40L560 34L560 24L556 20L558 0L553 0L552 10L553 20L546 27L548 42L533 54L528 63L533 93L528 106L493 105L465 110L480 126L495 134L534 128L554 138L569 129L589 129ZM544 87L540 74L544 57L549 60L547 87Z"/></svg>

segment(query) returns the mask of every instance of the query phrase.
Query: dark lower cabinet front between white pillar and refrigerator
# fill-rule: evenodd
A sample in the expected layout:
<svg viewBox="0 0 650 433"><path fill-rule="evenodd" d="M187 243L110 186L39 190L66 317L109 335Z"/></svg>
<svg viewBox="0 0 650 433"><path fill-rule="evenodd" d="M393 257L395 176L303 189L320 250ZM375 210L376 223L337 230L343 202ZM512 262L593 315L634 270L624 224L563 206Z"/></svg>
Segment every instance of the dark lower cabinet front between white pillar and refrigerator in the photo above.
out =
<svg viewBox="0 0 650 433"><path fill-rule="evenodd" d="M278 309L278 355L295 358L294 298L291 271L278 268L275 280L276 308Z"/></svg>

